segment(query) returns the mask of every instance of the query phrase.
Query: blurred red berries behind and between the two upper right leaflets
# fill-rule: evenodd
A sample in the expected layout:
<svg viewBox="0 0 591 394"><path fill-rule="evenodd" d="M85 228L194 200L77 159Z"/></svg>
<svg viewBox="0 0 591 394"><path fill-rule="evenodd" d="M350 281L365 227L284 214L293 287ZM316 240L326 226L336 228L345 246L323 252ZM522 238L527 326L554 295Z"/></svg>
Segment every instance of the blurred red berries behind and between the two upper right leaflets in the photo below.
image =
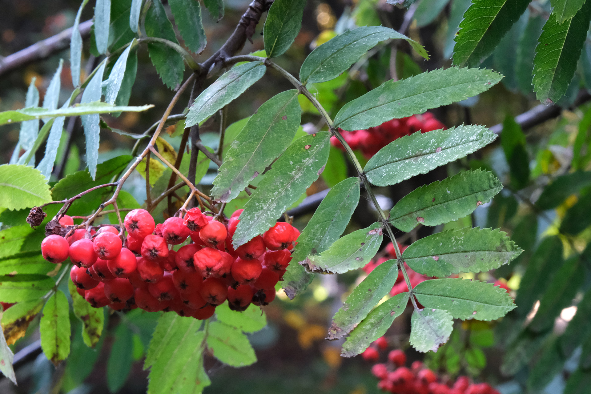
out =
<svg viewBox="0 0 591 394"><path fill-rule="evenodd" d="M366 158L371 158L379 149L384 148L390 142L405 135L411 135L414 132L444 129L443 123L438 121L432 113L425 112L423 115L413 115L408 118L392 119L379 126L371 127L367 130L344 131L339 129L343 138L349 144L351 149L359 149ZM345 150L343 145L336 137L331 137L330 142L333 146Z"/></svg>

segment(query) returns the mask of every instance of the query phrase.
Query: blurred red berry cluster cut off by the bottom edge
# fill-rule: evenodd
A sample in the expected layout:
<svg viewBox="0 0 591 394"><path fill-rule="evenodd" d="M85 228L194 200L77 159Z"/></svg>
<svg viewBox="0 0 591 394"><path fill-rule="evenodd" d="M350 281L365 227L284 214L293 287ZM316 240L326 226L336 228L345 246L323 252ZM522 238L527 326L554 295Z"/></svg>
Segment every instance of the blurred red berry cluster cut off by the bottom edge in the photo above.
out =
<svg viewBox="0 0 591 394"><path fill-rule="evenodd" d="M379 337L361 356L369 362L379 360L379 350L388 349L385 337ZM387 363L374 364L371 373L379 379L378 388L393 394L499 394L488 383L470 383L467 376L441 379L420 361L405 367L406 354L400 349L388 353Z"/></svg>

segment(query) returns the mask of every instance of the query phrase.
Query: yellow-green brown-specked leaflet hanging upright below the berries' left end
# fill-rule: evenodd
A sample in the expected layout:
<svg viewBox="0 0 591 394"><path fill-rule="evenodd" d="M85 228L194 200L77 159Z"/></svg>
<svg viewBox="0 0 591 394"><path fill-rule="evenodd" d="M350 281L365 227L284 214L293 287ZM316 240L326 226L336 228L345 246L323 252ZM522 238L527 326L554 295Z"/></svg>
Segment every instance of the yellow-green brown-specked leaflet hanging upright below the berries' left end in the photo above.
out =
<svg viewBox="0 0 591 394"><path fill-rule="evenodd" d="M41 349L56 366L70 354L70 307L63 291L47 300L41 314Z"/></svg>

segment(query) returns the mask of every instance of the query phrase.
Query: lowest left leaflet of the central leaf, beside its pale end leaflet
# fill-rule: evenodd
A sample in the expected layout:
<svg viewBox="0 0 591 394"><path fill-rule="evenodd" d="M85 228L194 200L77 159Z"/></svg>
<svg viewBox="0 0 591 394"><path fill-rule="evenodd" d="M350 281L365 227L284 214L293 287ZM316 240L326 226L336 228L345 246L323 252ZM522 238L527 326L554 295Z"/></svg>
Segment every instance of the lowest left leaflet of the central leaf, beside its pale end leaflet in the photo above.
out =
<svg viewBox="0 0 591 394"><path fill-rule="evenodd" d="M392 325L395 318L404 312L408 303L408 293L400 293L378 305L365 319L352 331L343 344L340 355L353 357L363 353L368 346L383 336Z"/></svg>

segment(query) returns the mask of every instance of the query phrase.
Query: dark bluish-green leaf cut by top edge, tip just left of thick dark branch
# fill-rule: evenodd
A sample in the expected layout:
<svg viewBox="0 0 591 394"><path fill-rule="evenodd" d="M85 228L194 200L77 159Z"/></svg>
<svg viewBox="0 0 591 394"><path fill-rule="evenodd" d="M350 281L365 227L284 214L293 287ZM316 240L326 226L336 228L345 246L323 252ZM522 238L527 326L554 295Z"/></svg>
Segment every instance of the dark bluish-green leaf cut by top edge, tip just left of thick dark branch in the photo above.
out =
<svg viewBox="0 0 591 394"><path fill-rule="evenodd" d="M178 31L187 48L194 53L202 53L207 45L207 37L201 21L201 6L194 0L168 0Z"/></svg>

